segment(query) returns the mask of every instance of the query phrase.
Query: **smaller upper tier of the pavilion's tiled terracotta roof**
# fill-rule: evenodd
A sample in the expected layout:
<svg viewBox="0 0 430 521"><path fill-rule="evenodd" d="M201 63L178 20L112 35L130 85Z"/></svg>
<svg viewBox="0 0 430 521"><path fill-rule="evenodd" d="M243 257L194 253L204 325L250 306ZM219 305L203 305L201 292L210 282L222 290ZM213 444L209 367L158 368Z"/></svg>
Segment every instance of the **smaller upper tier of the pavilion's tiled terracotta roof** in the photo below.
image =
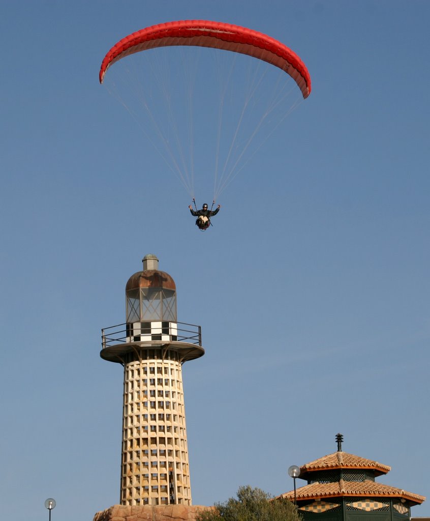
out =
<svg viewBox="0 0 430 521"><path fill-rule="evenodd" d="M363 468L374 470L375 476L381 476L381 474L387 474L391 470L388 465L383 465L377 461L367 460L364 457L355 456L348 452L337 451L333 454L327 454L326 456L318 458L318 460L311 461L300 467L300 477L303 475L314 472L315 470L328 470L336 468Z"/></svg>

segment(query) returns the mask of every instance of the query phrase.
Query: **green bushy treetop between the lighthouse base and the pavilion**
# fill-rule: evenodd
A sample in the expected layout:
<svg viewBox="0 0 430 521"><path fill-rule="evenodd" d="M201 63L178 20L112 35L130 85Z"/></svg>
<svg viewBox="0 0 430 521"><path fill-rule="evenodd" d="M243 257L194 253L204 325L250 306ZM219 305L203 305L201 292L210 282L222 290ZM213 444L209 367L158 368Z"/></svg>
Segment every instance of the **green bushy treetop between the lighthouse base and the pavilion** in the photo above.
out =
<svg viewBox="0 0 430 521"><path fill-rule="evenodd" d="M210 511L201 512L197 521L300 521L294 504L287 499L274 499L259 488L249 485L237 491L237 499L216 503Z"/></svg>

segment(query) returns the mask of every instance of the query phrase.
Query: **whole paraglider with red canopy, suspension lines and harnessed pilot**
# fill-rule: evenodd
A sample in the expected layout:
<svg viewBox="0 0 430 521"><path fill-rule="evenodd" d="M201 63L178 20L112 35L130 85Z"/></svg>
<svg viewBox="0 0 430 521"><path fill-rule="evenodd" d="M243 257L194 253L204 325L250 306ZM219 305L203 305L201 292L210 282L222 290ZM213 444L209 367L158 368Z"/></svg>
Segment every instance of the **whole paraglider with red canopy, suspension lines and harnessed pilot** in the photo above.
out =
<svg viewBox="0 0 430 521"><path fill-rule="evenodd" d="M189 59L186 57L178 60L176 59L178 55L173 53L173 49L170 51L162 50L166 47L194 47L196 49L194 52L197 52L199 47L210 48L214 49L215 57L213 61L210 61L206 59L210 57L208 54L202 55L203 58L201 59L195 59L195 54L192 54ZM153 49L153 51L150 49ZM149 53L144 53L144 51L149 51ZM130 62L130 69L125 71L130 75L130 82L125 85L125 90L128 89L131 96L135 96L136 103L140 105L140 110L146 117L143 123L139 121L139 109L131 108L128 101L124 100L122 92L117 94L118 100L136 119L148 141L153 145L153 149L157 150L165 159L168 167L181 180L189 195L192 196L193 201L194 171L197 170L195 152L198 151L200 161L201 158L205 160L204 165L199 165L198 170L208 170L213 165L214 193L212 207L220 193L232 182L262 143L269 139L273 130L298 104L298 102L294 102L288 105L286 103L287 96L294 91L297 94L301 93L301 98L304 100L311 93L311 78L308 69L292 49L271 38L271 36L230 23L209 20L180 20L160 23L133 32L113 45L104 57L99 71L100 84L104 83L107 71L113 64L118 61L122 63L128 61L123 60L123 58L135 54L139 57L142 55L149 56L148 61L152 60L149 66L142 67L140 83L136 83L140 69L133 61ZM225 67L226 76L229 79L231 71L236 67L237 56L246 55L246 58L243 59L248 60L249 65L253 66L250 67L249 84L244 86L242 90L239 83L241 84L243 81L245 85L245 75L239 76L239 81L231 80L232 92L239 98L239 103L236 105L233 105L236 98L233 100L233 95L230 92L226 93L226 88L220 79L221 75L218 73L217 66L221 55L230 55L232 58L232 63L227 62ZM180 56L180 58L183 57ZM184 64L186 65L188 61L195 66L195 69L192 69L186 77ZM271 66L279 69L281 79L270 83L272 73L261 72L260 65L262 63L264 66L269 64L267 67L270 70L273 70ZM165 65L165 67L167 65L167 69L160 73L161 79L157 82L157 72L162 65ZM178 66L176 71L173 70L175 66ZM206 78L205 70L207 68L213 71L214 81ZM260 74L258 77L257 72ZM126 73L119 74L117 81L112 82L112 91L115 91L115 93L117 93L117 85L123 77L127 76ZM107 77L110 78L111 74L109 72ZM182 76L185 77L184 92L179 94ZM173 78L173 81L170 84L165 83L166 78L170 79L170 77ZM262 78L265 80L266 77L268 88L262 92L257 92L260 84L264 83ZM287 78L293 86L286 86L287 81L284 78ZM195 89L194 85L189 86L192 81L202 79L204 81L202 89ZM216 88L218 83L220 84L218 85L220 102L217 114L216 104L211 103L207 96L209 92ZM280 87L278 87L278 83L281 84ZM207 88L208 85L210 85L210 90ZM276 90L277 88L280 92ZM161 97L163 94L165 95L166 105L165 114L161 113L162 101L159 101L159 99L151 105L156 96ZM239 96L242 96L242 99ZM254 96L253 99L252 96ZM196 109L185 107L187 102L195 103L199 98L205 98L203 106ZM262 108L262 113L257 116L256 108L261 101L265 102L266 105ZM174 102L176 102L176 105ZM227 102L231 102L231 105L227 106ZM178 108L178 106L179 114L176 116L173 109ZM211 111L213 111L213 116ZM193 113L198 114L198 119L192 119ZM212 119L210 119L210 116L212 116ZM222 128L221 125L223 125ZM203 131L200 131L200 128L203 128ZM210 134L210 132L212 133ZM260 142L256 144L257 134ZM161 146L158 146L157 139ZM198 140L200 140L200 144L203 143L204 147L211 146L212 150L209 150L209 152L201 150L202 147L196 144ZM189 157L187 157L187 152ZM211 154L213 154L213 161ZM207 205L206 208L203 207L201 210L198 210L197 207L194 210L191 205L189 206L192 215L198 218L196 221L198 228L203 231L211 226L210 217L216 215L219 208L220 205L212 212L212 209L209 210ZM206 212L208 215L200 215L201 212Z"/></svg>

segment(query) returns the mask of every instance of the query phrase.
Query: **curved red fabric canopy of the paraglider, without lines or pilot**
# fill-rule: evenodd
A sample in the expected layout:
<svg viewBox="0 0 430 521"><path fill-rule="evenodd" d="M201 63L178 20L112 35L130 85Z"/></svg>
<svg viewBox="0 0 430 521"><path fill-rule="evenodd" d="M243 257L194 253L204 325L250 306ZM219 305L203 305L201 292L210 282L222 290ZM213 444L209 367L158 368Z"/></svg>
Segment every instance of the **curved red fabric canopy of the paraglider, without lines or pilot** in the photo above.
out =
<svg viewBox="0 0 430 521"><path fill-rule="evenodd" d="M125 36L106 54L100 68L100 83L103 83L107 69L124 56L170 45L213 47L254 56L287 72L297 83L303 98L311 92L306 65L286 45L252 29L207 20L159 23Z"/></svg>

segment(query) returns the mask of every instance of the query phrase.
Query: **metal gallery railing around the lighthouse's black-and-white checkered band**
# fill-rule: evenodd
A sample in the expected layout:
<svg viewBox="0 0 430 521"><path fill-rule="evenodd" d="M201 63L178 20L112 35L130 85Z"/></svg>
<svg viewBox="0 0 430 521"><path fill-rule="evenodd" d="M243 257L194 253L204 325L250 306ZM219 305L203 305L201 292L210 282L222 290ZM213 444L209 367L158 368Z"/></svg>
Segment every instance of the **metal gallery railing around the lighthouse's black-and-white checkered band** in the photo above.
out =
<svg viewBox="0 0 430 521"><path fill-rule="evenodd" d="M154 331L156 331L156 333L154 333ZM201 327L195 326L194 324L186 324L185 322L158 320L126 322L125 324L118 324L117 326L102 329L102 348L105 349L111 345L135 341L150 342L151 340L166 340L166 337L169 337L170 341L174 340L176 342L188 342L190 344L201 345Z"/></svg>

